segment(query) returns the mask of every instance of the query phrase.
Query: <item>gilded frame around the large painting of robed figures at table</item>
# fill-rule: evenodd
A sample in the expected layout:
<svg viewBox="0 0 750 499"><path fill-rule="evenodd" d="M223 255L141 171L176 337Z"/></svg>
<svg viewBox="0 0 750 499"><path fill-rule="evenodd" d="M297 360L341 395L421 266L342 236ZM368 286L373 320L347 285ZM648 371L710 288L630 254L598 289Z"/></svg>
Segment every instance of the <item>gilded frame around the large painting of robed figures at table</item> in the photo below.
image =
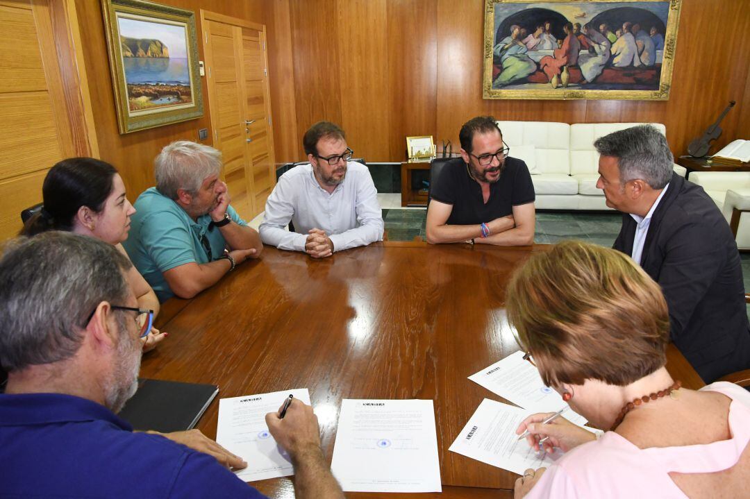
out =
<svg viewBox="0 0 750 499"><path fill-rule="evenodd" d="M661 77L656 90L586 90L567 88L508 89L493 88L493 47L495 42L496 4L628 4L663 2L669 4L664 52L661 62ZM482 97L484 99L617 99L617 100L669 100L672 82L674 51L677 43L677 25L682 0L484 0L484 55Z"/></svg>

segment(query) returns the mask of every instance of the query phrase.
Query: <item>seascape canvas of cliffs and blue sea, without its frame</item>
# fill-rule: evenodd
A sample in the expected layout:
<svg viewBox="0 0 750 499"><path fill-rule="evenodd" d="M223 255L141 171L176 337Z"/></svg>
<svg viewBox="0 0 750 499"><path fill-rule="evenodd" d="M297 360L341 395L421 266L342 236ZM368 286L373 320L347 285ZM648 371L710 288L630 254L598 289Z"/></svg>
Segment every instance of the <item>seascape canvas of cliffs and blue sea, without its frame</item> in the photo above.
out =
<svg viewBox="0 0 750 499"><path fill-rule="evenodd" d="M130 112L193 103L185 26L125 16L118 26Z"/></svg>

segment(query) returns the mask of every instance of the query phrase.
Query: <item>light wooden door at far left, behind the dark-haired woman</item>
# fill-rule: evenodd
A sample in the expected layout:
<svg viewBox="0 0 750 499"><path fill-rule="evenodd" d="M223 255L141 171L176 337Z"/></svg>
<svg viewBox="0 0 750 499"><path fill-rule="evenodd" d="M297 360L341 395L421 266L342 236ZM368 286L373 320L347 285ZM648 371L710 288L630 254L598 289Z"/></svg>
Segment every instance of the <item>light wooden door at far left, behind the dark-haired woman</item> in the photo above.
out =
<svg viewBox="0 0 750 499"><path fill-rule="evenodd" d="M68 7L0 0L0 241L20 231L21 210L41 202L52 165L97 152L83 116Z"/></svg>

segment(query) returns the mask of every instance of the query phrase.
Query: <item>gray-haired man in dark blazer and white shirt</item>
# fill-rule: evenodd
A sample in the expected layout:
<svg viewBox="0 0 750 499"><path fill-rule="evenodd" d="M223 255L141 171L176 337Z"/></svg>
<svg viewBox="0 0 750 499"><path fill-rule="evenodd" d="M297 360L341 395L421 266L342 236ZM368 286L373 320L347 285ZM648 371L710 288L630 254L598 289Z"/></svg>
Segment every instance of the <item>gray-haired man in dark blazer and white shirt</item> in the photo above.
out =
<svg viewBox="0 0 750 499"><path fill-rule="evenodd" d="M666 138L644 125L601 137L597 187L622 211L614 249L661 285L672 342L703 381L750 369L736 242L702 187L673 172Z"/></svg>

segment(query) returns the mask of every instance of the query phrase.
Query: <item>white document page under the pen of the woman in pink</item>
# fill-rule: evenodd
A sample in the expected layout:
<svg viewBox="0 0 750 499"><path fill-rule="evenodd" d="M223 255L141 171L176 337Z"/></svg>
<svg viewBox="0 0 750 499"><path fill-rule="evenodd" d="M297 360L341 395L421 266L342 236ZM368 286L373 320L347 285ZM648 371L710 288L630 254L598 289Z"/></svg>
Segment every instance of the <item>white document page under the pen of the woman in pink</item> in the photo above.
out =
<svg viewBox="0 0 750 499"><path fill-rule="evenodd" d="M562 452L536 452L525 438L518 441L519 435L515 433L530 414L512 405L484 399L449 450L517 474L528 468L549 467Z"/></svg>

